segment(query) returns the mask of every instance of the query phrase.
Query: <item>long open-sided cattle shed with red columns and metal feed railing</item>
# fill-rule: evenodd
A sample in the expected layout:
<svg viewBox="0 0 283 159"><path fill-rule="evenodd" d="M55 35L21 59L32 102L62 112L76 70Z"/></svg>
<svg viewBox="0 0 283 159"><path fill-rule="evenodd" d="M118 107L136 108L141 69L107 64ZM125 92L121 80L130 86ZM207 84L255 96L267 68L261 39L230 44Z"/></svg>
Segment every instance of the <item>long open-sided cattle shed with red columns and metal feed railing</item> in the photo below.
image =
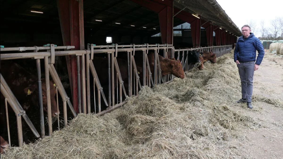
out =
<svg viewBox="0 0 283 159"><path fill-rule="evenodd" d="M64 114L64 126L67 125L67 111L68 116L73 117L81 112L103 115L125 104L122 95L123 98L138 95L141 86L169 83L174 77L179 77L173 73L161 74L158 54L164 58L175 58L176 62L180 60L180 68L188 71L195 66L187 62L190 53L198 56L199 52L207 51L215 53L214 56L222 56L230 52L239 36L241 31L215 0L1 0L1 62L25 60L21 65L25 69L33 67L30 70L37 74L38 83L41 82L40 71L41 75L45 73L42 81L46 81L46 92L50 91L47 90L49 75L52 77L58 89L57 95L60 93L59 99L63 100L63 103L59 100L63 104L59 105L62 107L60 111L64 112L61 113ZM119 68L121 65L117 60L121 55L118 52L123 52L125 56L121 58L128 62L128 67L125 65L128 72L126 87L122 79L123 70ZM154 54L152 72L147 56L150 53ZM101 78L100 81L98 78L100 68L92 61L98 59L98 55L104 57L104 63L108 64L105 75L108 75L109 85L104 90ZM143 65L138 66L135 58L136 61L142 58ZM56 63L58 59L61 62ZM66 79L60 72L67 73ZM36 128L23 113L25 111L17 106L19 102L10 94L12 92L6 87L2 75L1 93L2 80L5 93L13 101L9 103L7 99L8 104L14 105L13 110L25 119L38 137ZM68 80L69 89L64 88L63 80ZM90 87L94 90L90 90ZM41 88L41 84L38 84L38 88ZM41 90L38 90L40 96ZM107 91L109 94L104 95ZM91 103L97 104L94 110ZM101 103L106 105L106 110L101 110ZM45 129L51 135L50 102L48 104L47 101L47 105L48 127ZM39 106L40 136L43 138L44 106L40 98ZM21 119L18 116L17 121ZM21 136L20 130L18 136ZM22 145L23 141L18 138L18 145Z"/></svg>

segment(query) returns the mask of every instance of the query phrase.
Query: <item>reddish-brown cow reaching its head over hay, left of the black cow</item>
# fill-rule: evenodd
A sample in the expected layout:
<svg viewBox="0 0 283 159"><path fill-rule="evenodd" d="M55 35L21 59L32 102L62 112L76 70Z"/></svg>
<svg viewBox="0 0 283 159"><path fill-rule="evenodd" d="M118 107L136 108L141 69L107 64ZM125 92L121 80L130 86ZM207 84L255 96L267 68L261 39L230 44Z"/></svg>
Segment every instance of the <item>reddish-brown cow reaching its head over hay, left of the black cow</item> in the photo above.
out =
<svg viewBox="0 0 283 159"><path fill-rule="evenodd" d="M180 60L175 60L175 58L169 59L164 58L161 55L158 55L159 62L160 62L160 68L162 76L173 74L176 77L179 77L181 79L185 78L184 70L182 67L182 64ZM150 65L151 73L154 71L154 53L148 53L148 60Z"/></svg>

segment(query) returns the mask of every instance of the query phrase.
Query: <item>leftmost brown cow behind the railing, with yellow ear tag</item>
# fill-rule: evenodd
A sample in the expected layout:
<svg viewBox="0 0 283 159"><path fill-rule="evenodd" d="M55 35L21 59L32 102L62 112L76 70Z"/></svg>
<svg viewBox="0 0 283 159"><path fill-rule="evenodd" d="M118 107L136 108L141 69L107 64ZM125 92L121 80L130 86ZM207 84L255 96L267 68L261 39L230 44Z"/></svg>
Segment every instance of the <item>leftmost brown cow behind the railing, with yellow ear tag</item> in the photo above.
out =
<svg viewBox="0 0 283 159"><path fill-rule="evenodd" d="M8 86L16 96L23 109L28 110L30 107L38 106L38 82L37 76L26 71L22 66L9 61L1 60L1 74ZM56 88L50 80L50 98L51 98L51 115L57 116L57 103L55 99ZM4 97L1 93L1 100ZM43 110L47 112L46 83L42 80L42 101Z"/></svg>

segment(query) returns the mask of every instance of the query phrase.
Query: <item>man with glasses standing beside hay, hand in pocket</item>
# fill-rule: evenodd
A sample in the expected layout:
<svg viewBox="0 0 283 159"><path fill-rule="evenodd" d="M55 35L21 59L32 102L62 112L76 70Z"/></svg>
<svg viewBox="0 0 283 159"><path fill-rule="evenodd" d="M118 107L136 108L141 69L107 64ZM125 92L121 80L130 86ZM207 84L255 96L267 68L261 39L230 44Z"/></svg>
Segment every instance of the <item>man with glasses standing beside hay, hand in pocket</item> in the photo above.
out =
<svg viewBox="0 0 283 159"><path fill-rule="evenodd" d="M241 30L243 35L238 39L234 50L234 62L237 64L242 85L242 99L237 100L237 103L247 103L248 108L252 109L254 71L258 70L264 49L260 40L251 33L250 26L244 25Z"/></svg>

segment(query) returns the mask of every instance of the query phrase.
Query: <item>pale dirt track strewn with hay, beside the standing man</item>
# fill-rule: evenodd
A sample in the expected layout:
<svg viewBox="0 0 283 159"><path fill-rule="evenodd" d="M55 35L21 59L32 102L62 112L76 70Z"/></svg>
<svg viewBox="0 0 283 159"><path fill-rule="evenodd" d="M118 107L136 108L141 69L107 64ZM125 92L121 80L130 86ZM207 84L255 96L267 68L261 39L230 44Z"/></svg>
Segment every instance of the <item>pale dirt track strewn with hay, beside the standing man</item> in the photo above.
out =
<svg viewBox="0 0 283 159"><path fill-rule="evenodd" d="M253 95L283 99L283 58L265 50L265 56L254 73ZM235 141L245 147L247 158L283 158L283 108L265 102L252 102L249 110L246 104L234 104L234 108L262 125L256 130L244 129L247 141Z"/></svg>

